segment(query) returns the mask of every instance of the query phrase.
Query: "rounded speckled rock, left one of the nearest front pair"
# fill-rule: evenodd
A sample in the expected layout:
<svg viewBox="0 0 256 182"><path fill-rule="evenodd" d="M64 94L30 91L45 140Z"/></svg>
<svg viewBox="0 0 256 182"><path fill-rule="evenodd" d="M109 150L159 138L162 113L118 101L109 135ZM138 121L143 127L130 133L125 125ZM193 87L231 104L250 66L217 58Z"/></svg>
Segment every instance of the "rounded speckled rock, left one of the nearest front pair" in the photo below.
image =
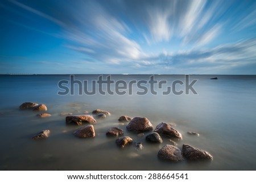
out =
<svg viewBox="0 0 256 182"><path fill-rule="evenodd" d="M158 151L158 158L170 162L179 162L183 159L180 149L172 145L165 145Z"/></svg>

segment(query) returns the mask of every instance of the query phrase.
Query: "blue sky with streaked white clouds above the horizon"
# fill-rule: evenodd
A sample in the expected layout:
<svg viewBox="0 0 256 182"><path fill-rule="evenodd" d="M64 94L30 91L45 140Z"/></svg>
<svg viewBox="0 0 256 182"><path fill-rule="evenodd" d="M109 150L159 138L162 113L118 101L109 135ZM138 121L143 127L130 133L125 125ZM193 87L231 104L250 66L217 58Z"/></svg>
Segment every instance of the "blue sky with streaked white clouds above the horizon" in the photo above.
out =
<svg viewBox="0 0 256 182"><path fill-rule="evenodd" d="M256 1L0 1L0 74L256 74Z"/></svg>

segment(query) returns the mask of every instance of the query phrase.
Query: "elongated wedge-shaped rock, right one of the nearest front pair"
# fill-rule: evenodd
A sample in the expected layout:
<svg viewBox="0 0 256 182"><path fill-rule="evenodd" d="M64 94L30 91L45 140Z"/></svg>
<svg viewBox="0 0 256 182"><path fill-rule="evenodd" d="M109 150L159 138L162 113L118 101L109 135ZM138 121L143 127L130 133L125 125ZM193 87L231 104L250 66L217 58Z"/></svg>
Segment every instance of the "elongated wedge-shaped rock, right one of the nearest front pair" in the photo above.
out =
<svg viewBox="0 0 256 182"><path fill-rule="evenodd" d="M213 160L213 156L210 155L207 151L197 149L190 145L184 144L182 146L182 153L185 158L190 160L198 160L198 159Z"/></svg>

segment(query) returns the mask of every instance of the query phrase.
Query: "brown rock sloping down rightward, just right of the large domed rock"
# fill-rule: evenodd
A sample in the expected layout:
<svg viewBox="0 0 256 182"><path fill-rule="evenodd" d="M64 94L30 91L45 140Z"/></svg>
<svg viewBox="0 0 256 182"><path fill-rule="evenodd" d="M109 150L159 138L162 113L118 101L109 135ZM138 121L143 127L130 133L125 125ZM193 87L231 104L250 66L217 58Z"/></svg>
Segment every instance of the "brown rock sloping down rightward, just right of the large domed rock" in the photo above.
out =
<svg viewBox="0 0 256 182"><path fill-rule="evenodd" d="M180 134L180 132L178 132L176 129L172 128L165 122L161 122L159 125L157 125L154 132L160 134L161 136L182 139L182 135Z"/></svg>

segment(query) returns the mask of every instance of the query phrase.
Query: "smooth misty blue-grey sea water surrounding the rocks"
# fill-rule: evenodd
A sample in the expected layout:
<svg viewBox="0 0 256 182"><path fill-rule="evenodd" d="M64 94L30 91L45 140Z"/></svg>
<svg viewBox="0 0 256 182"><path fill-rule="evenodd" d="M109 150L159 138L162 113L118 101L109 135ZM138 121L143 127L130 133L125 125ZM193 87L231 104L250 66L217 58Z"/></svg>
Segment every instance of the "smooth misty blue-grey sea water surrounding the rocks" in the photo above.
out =
<svg viewBox="0 0 256 182"><path fill-rule="evenodd" d="M98 75L76 75L75 79L97 79ZM150 75L112 75L112 79L148 80ZM256 76L191 75L199 79L194 88L199 95L75 95L60 96L57 83L69 75L1 75L0 76L0 170L256 170ZM105 77L104 77L105 78ZM168 83L184 75L155 75ZM184 88L180 86L178 88ZM165 90L163 88L163 90ZM135 93L137 88L133 89ZM161 91L161 90L158 90ZM159 92L160 93L160 92ZM20 111L24 101L43 103L52 117L37 118L32 111ZM112 115L97 120L95 138L79 139L72 132L79 126L65 124L62 112L82 114L104 109ZM147 117L154 127L160 122L175 122L183 134L177 141L207 150L213 162L163 162L158 150L170 144L147 143L144 137L126 131L119 116ZM116 138L105 136L106 130L118 126L134 141L144 145L119 149ZM31 137L43 129L51 135L43 141ZM200 133L200 137L187 132ZM146 133L147 134L147 133Z"/></svg>

